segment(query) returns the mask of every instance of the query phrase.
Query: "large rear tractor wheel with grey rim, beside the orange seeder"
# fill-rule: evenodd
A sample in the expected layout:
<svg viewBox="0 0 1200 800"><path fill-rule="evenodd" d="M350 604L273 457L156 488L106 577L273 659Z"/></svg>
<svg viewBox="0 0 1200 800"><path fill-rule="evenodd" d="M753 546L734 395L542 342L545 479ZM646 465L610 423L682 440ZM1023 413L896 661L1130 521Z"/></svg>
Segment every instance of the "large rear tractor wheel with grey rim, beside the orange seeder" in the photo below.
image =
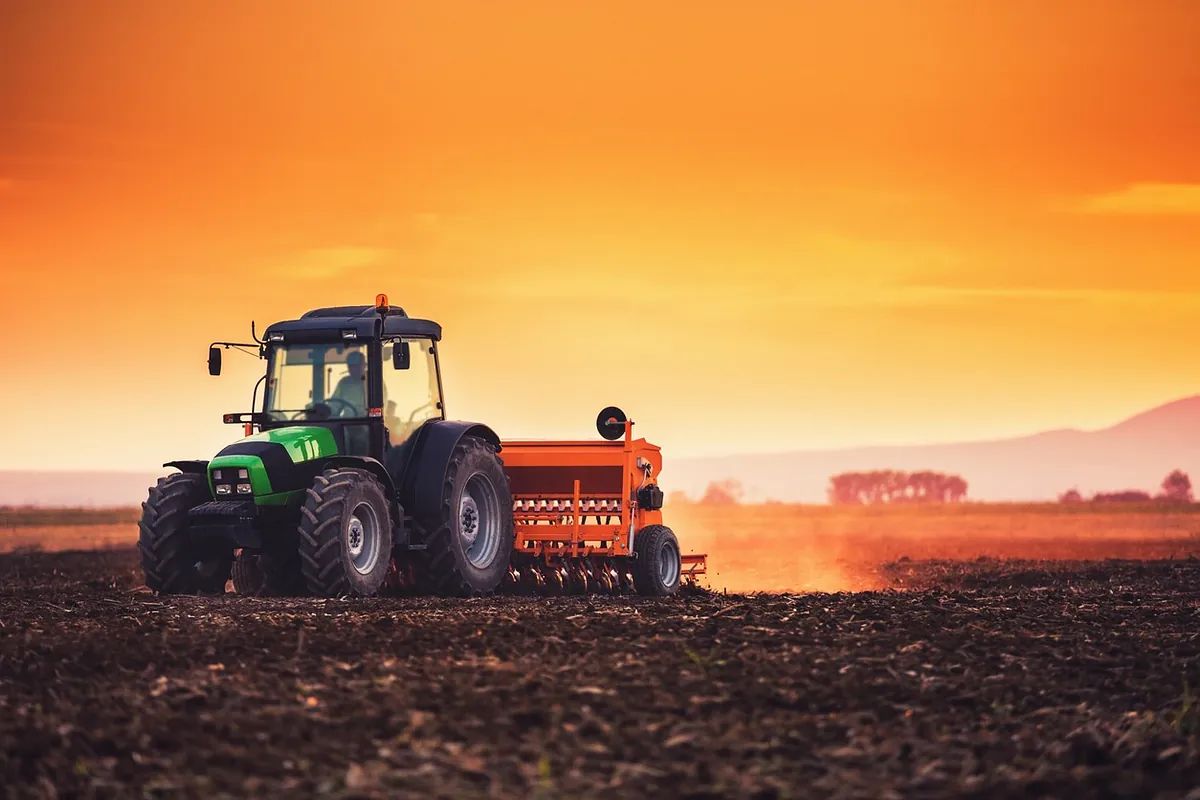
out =
<svg viewBox="0 0 1200 800"><path fill-rule="evenodd" d="M467 435L446 465L442 505L422 521L422 578L434 594L474 597L496 591L512 557L512 494L504 462L486 441Z"/></svg>

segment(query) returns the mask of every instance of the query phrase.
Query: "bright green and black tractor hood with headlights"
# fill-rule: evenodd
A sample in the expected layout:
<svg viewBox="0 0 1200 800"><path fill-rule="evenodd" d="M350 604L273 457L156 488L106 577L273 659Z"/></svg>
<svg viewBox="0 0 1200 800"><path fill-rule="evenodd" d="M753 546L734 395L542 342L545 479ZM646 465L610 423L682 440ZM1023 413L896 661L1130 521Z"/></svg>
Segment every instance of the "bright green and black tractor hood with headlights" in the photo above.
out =
<svg viewBox="0 0 1200 800"><path fill-rule="evenodd" d="M209 488L217 500L283 504L312 483L322 459L336 455L329 428L264 431L226 446L209 462Z"/></svg>

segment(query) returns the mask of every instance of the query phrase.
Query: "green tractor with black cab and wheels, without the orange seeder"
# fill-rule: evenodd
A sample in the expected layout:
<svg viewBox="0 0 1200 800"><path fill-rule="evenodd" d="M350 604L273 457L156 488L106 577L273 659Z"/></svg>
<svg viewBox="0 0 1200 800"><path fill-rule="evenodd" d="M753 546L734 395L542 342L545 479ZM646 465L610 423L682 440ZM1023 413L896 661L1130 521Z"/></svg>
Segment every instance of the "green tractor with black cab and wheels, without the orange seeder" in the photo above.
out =
<svg viewBox="0 0 1200 800"><path fill-rule="evenodd" d="M379 295L270 325L262 407L226 414L246 437L211 461L164 464L138 548L160 594L373 596L400 554L425 591L492 593L514 547L499 437L445 417L442 327ZM256 432L257 428L257 432Z"/></svg>

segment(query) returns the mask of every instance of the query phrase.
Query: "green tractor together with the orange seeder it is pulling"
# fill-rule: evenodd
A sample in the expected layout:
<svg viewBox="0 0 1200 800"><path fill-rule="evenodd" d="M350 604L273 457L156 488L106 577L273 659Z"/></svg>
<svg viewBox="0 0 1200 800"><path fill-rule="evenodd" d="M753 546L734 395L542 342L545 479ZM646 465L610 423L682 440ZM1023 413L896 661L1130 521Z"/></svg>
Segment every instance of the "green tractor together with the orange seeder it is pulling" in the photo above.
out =
<svg viewBox="0 0 1200 800"><path fill-rule="evenodd" d="M600 413L600 441L502 443L449 420L440 325L383 294L251 332L209 347L211 375L230 348L265 361L254 410L223 415L245 435L166 463L178 471L142 505L151 590L222 594L232 578L269 596L666 596L706 573L662 524L659 449L620 409Z"/></svg>

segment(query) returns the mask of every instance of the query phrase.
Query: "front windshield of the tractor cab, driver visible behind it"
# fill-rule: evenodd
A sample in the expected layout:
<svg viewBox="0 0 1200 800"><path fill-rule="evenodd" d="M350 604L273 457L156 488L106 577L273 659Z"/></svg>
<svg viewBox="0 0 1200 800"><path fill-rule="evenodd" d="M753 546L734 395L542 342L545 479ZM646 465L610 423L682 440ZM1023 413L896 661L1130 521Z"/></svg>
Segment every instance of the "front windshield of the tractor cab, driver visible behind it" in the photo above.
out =
<svg viewBox="0 0 1200 800"><path fill-rule="evenodd" d="M367 416L366 344L275 348L266 377L266 413L276 420Z"/></svg>

